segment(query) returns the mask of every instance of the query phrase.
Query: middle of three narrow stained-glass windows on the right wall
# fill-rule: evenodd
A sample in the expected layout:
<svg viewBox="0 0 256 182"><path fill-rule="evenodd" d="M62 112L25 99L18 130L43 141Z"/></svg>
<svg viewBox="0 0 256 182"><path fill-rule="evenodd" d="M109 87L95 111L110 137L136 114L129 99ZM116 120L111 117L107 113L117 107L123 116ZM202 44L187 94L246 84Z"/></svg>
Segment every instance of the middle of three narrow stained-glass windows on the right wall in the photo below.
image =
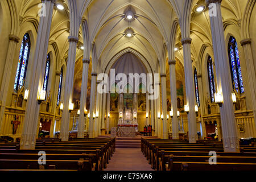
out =
<svg viewBox="0 0 256 182"><path fill-rule="evenodd" d="M210 86L210 101L214 102L215 82L214 82L212 57L210 56L208 57L208 61L207 61L207 70L208 70L208 79L209 79L209 86Z"/></svg>

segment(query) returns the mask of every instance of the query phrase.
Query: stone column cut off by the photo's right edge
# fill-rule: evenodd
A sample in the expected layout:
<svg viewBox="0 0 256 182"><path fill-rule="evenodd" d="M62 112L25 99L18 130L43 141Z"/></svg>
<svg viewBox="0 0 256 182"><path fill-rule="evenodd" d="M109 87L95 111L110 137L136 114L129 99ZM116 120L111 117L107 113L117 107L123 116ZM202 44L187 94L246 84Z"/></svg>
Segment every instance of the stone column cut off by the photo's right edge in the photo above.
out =
<svg viewBox="0 0 256 182"><path fill-rule="evenodd" d="M245 53L245 63L247 68L247 77L250 86L250 93L251 93L251 103L253 106L253 115L254 115L254 125L256 129L256 77L255 77L255 67L254 67L254 60L253 54L251 51L251 39L244 39L241 41L241 46L243 47L243 52Z"/></svg>

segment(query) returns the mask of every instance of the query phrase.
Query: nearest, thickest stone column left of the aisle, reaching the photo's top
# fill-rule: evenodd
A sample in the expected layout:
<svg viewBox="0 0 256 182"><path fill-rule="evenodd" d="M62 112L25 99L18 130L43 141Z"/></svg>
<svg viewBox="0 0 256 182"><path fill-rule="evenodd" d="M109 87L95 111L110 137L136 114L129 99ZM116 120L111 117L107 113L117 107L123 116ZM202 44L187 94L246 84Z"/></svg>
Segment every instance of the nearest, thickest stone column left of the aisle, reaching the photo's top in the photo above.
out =
<svg viewBox="0 0 256 182"><path fill-rule="evenodd" d="M46 69L46 56L48 51L49 33L52 23L52 11L55 1L43 1L46 4L46 16L39 20L38 36L34 53L33 67L31 69L30 93L26 105L26 113L23 124L23 133L20 138L22 150L35 149L36 131L39 122L38 93L43 88L44 72Z"/></svg>

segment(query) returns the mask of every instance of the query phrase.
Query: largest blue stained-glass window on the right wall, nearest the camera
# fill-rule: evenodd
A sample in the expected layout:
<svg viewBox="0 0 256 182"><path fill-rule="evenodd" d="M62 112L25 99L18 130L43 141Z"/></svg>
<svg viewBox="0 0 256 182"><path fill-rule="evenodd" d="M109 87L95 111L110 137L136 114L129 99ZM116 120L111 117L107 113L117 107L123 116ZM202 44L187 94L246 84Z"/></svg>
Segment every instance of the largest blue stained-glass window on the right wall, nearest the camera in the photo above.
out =
<svg viewBox="0 0 256 182"><path fill-rule="evenodd" d="M241 65L240 65L240 57L237 47L237 41L233 36L229 39L229 63L230 63L230 69L231 69L231 77L232 77L232 83L233 89L236 89L237 92L243 93L245 92L243 88L243 78L242 78L242 72L241 72Z"/></svg>

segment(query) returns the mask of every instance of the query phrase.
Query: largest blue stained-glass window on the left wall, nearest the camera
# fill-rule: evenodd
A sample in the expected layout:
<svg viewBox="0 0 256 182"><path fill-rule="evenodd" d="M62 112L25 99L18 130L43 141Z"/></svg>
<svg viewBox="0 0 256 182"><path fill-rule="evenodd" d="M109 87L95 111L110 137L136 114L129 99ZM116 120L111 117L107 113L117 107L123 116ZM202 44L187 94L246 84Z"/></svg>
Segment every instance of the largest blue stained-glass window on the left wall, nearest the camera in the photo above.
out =
<svg viewBox="0 0 256 182"><path fill-rule="evenodd" d="M14 90L22 88L27 73L28 58L30 56L30 36L25 34L19 51L19 62L16 70Z"/></svg>

